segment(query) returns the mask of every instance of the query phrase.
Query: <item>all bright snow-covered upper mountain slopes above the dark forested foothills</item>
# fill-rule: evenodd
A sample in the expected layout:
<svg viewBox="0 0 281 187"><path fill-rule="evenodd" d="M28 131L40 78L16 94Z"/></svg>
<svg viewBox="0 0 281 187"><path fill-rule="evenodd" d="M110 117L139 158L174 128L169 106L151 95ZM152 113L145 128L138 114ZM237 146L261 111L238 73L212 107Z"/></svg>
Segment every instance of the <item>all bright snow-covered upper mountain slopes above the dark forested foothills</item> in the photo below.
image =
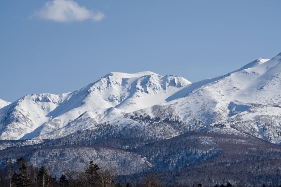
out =
<svg viewBox="0 0 281 187"><path fill-rule="evenodd" d="M162 138L220 127L280 144L280 62L281 53L194 83L153 72L109 73L74 92L27 95L0 109L0 139L54 139L106 122L151 128ZM168 115L184 126L147 126Z"/></svg>

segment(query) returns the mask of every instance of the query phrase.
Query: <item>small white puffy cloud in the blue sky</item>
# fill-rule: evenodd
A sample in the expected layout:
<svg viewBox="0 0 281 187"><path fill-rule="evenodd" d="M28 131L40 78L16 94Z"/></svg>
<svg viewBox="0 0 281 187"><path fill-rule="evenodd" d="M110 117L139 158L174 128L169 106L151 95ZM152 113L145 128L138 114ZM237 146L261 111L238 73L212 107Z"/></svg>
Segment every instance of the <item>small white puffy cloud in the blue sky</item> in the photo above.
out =
<svg viewBox="0 0 281 187"><path fill-rule="evenodd" d="M98 22L105 17L100 11L90 11L72 0L47 1L45 6L35 11L33 16L56 22L82 22L86 19Z"/></svg>

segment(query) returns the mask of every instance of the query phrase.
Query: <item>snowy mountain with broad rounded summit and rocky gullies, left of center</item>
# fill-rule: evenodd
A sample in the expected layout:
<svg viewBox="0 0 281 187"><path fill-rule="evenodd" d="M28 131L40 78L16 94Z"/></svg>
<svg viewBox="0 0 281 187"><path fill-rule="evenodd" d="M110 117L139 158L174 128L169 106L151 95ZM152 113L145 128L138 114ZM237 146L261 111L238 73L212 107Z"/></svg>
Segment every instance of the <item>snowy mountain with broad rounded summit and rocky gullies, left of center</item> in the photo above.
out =
<svg viewBox="0 0 281 187"><path fill-rule="evenodd" d="M0 138L60 137L165 102L190 82L153 72L109 73L71 93L32 94L0 109Z"/></svg>

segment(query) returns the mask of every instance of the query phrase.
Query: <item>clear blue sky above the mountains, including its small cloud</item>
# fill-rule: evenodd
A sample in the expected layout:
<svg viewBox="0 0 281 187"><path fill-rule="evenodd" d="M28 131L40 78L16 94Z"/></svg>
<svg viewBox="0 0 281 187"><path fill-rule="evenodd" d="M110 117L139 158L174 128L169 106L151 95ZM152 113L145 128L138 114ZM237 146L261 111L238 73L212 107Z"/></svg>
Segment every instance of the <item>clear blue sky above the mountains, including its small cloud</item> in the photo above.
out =
<svg viewBox="0 0 281 187"><path fill-rule="evenodd" d="M149 70L191 82L219 76L281 52L280 7L281 1L1 1L0 98L70 92L109 72Z"/></svg>

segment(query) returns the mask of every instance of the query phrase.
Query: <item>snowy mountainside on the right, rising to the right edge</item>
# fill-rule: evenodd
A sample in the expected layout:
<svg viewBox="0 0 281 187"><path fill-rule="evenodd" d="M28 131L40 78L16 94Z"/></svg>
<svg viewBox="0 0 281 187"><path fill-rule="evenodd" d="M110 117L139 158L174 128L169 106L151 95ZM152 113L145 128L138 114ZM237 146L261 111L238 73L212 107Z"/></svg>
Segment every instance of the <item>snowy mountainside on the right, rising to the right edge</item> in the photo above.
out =
<svg viewBox="0 0 281 187"><path fill-rule="evenodd" d="M257 59L227 75L187 85L160 106L174 108L193 129L234 128L280 144L280 62L281 53Z"/></svg>

